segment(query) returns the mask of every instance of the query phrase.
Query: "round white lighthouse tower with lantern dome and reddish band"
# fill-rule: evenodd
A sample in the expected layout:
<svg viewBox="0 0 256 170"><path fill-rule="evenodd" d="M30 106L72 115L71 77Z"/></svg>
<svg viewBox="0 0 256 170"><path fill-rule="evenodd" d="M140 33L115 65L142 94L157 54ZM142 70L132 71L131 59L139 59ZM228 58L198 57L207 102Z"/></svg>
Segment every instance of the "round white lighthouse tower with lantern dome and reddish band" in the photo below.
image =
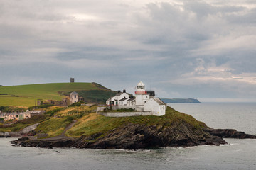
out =
<svg viewBox="0 0 256 170"><path fill-rule="evenodd" d="M145 85L142 81L140 81L135 87L135 97L137 111L144 111L144 104L146 101L149 101L149 94L146 93Z"/></svg>

